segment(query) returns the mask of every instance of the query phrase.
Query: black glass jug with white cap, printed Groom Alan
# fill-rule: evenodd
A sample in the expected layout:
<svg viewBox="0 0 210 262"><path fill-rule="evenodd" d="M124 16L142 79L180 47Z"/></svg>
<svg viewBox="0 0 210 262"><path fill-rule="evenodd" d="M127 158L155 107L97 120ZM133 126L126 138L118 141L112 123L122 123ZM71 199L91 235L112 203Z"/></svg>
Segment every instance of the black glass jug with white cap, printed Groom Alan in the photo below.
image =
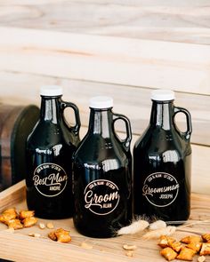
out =
<svg viewBox="0 0 210 262"><path fill-rule="evenodd" d="M90 100L89 128L73 155L73 220L91 237L114 236L132 220L131 127L112 107L109 97ZM125 122L125 139L115 132L117 120Z"/></svg>

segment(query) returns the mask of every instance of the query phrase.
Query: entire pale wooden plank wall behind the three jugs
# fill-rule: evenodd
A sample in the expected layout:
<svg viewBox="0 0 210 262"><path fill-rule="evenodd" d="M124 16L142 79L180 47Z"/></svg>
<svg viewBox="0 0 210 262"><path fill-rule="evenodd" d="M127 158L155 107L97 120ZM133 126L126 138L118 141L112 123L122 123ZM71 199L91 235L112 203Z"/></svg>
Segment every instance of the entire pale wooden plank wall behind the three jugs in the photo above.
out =
<svg viewBox="0 0 210 262"><path fill-rule="evenodd" d="M192 189L209 194L210 1L7 0L0 36L0 101L39 105L40 85L61 84L83 134L88 99L110 95L134 143L149 123L150 91L173 89L192 115Z"/></svg>

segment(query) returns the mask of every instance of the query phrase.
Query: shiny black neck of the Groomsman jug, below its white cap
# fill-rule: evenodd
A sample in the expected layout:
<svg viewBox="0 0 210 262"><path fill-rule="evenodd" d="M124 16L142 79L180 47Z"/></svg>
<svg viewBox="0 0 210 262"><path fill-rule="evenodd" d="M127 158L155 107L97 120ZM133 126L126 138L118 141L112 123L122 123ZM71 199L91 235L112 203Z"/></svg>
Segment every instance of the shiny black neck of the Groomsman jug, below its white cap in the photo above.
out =
<svg viewBox="0 0 210 262"><path fill-rule="evenodd" d="M173 126L174 100L153 101L150 115L150 124L163 130L170 130Z"/></svg>

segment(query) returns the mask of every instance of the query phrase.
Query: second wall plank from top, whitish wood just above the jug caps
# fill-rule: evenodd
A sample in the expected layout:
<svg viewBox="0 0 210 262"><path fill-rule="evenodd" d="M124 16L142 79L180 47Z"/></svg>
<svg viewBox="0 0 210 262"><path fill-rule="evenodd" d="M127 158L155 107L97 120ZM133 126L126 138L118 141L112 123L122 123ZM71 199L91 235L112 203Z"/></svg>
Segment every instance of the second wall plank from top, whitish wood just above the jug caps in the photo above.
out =
<svg viewBox="0 0 210 262"><path fill-rule="evenodd" d="M210 46L0 28L0 69L210 94Z"/></svg>

